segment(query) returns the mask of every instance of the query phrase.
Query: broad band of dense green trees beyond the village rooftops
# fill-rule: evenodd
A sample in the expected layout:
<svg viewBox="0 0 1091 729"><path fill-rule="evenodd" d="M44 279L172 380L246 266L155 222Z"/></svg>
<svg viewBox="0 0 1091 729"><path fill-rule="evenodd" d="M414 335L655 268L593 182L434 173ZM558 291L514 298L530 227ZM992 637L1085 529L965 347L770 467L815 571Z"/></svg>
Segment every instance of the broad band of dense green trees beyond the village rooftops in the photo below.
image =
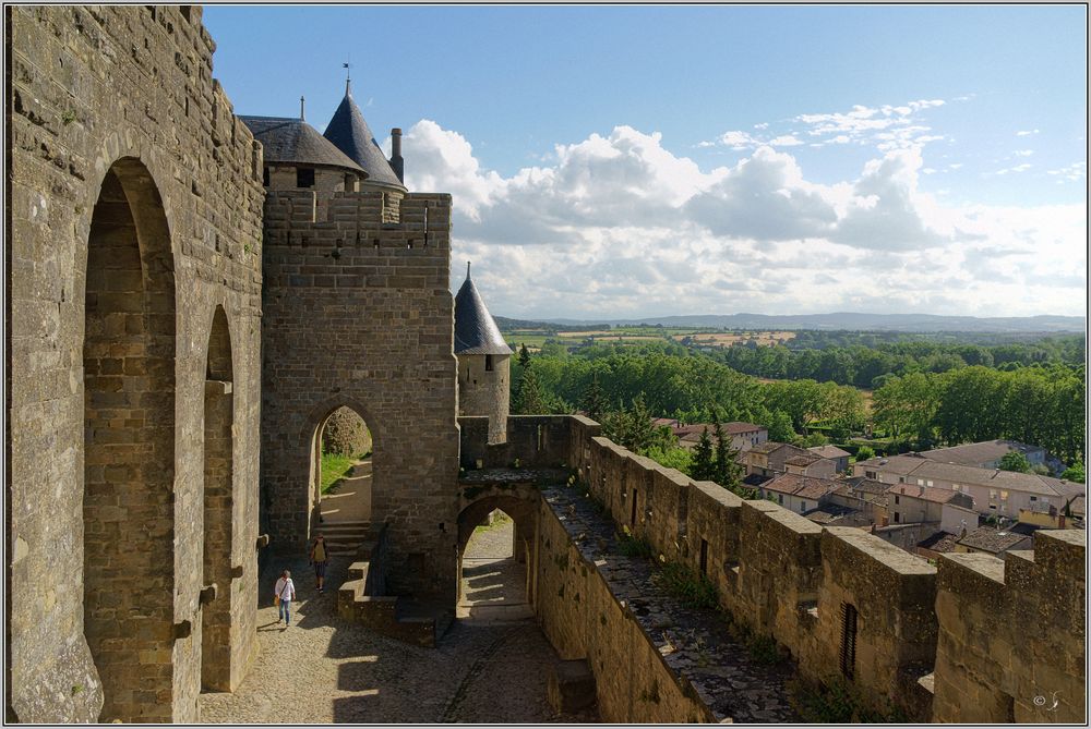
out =
<svg viewBox="0 0 1091 729"><path fill-rule="evenodd" d="M804 447L843 444L871 422L889 439L888 451L1010 438L1076 463L1086 457L1086 382L1082 364L883 373L868 414L852 386L812 378L763 382L675 344L603 344L576 353L543 349L533 357L524 349L512 365L512 410L584 411L602 422L638 401L649 420L746 421L768 428L770 440ZM664 457L670 451L661 441L647 446L654 447Z"/></svg>

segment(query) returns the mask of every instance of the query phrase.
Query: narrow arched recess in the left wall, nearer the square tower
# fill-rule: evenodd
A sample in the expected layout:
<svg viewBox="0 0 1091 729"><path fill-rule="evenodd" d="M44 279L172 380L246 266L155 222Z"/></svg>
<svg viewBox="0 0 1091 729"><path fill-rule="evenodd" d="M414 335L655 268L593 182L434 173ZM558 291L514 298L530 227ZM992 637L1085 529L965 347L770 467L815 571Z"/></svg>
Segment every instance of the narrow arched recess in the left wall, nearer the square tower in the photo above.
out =
<svg viewBox="0 0 1091 729"><path fill-rule="evenodd" d="M208 332L204 388L204 579L201 688L231 690L231 513L233 367L227 314L217 306ZM207 587L215 585L214 591Z"/></svg>

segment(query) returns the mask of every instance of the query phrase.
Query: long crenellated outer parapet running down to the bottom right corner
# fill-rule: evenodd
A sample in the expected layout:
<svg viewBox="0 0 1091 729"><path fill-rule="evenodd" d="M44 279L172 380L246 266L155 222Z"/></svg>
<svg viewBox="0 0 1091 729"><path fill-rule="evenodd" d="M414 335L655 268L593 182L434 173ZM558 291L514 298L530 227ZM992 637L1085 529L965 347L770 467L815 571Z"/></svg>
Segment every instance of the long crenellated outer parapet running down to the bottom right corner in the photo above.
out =
<svg viewBox="0 0 1091 729"><path fill-rule="evenodd" d="M875 709L896 708L910 720L1083 721L1084 532L1041 531L1034 551L1004 560L944 556L937 569L861 530L822 527L694 482L599 437L584 417L513 416L507 430L501 447L483 445L483 426L464 429L473 436L464 442L464 466L475 453L488 466L493 452L576 469L619 527L704 573L735 620L790 651L801 677L846 681ZM556 551L546 545L556 542L556 525L544 517L539 524L533 551ZM602 643L616 631L588 629L588 606L555 596L561 575L549 561L535 561L544 581L535 594L551 641L565 658L611 655ZM584 575L587 593L604 594L591 582ZM608 667L606 685L636 695L635 684L618 687L633 665ZM659 669L645 665L646 681ZM623 702L603 691L600 701L626 720Z"/></svg>

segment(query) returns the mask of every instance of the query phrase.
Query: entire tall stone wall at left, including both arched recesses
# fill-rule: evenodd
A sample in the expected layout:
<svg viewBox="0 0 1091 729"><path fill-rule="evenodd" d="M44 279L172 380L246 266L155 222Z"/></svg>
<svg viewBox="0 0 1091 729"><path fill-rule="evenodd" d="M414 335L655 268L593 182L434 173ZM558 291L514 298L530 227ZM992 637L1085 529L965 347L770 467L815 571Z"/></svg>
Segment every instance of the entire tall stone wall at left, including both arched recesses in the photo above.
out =
<svg viewBox="0 0 1091 729"><path fill-rule="evenodd" d="M8 716L193 721L256 646L261 148L200 8L4 12Z"/></svg>

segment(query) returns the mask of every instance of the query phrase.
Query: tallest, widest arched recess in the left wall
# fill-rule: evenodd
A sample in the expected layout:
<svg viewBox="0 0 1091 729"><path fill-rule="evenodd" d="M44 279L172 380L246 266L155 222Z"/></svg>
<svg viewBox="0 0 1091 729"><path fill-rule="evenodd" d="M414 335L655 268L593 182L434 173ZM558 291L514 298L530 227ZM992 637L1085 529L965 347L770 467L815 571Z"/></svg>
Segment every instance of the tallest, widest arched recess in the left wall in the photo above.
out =
<svg viewBox="0 0 1091 729"><path fill-rule="evenodd" d="M163 201L139 159L103 180L84 306L84 635L101 718L170 721L175 276Z"/></svg>

